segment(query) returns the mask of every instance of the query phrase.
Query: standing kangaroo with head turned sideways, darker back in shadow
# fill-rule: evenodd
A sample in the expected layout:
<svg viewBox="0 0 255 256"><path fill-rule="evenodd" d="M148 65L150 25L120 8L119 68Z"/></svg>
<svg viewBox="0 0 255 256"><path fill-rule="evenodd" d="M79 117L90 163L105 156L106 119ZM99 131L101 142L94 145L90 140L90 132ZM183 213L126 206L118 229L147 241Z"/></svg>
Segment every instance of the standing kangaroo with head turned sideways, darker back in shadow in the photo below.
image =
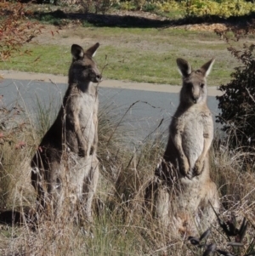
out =
<svg viewBox="0 0 255 256"><path fill-rule="evenodd" d="M70 197L92 220L91 205L99 177L99 100L92 83L101 81L92 59L97 48L99 43L87 51L77 44L71 46L73 59L63 104L31 160L31 184L41 212L51 203L59 215L64 200Z"/></svg>

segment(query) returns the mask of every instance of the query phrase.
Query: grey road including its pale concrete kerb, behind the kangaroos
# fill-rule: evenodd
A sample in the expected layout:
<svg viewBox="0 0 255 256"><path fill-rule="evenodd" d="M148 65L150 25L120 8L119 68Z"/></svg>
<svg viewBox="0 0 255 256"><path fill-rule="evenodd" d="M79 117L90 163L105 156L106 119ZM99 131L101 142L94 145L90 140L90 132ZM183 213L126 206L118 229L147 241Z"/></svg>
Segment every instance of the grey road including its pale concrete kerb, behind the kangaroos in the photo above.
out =
<svg viewBox="0 0 255 256"><path fill-rule="evenodd" d="M66 77L16 71L0 71L0 74L5 78L0 82L5 105L19 102L31 117L37 112L38 103L50 108L53 116L59 111L67 87ZM106 80L99 84L99 107L117 122L122 120L124 142L137 146L155 130L167 136L178 105L179 89L179 86ZM215 117L218 114L217 91L215 88L209 91L208 105ZM159 124L160 128L156 129Z"/></svg>

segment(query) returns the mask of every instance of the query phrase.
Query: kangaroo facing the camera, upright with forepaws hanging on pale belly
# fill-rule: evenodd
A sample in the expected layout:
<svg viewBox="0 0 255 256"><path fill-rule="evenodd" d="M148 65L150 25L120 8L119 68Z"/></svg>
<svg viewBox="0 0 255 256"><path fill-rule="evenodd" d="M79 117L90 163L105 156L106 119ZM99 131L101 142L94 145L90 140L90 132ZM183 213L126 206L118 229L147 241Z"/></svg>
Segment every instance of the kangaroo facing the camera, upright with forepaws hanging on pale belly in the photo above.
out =
<svg viewBox="0 0 255 256"><path fill-rule="evenodd" d="M213 138L212 114L207 107L207 80L214 59L194 71L183 59L177 59L183 77L178 109L169 127L169 138L163 159L156 168L155 182L146 191L154 190L156 215L164 224L170 215L185 230L190 215L201 225L214 219L213 208L219 208L218 191L210 178L209 149ZM148 198L149 198L148 197ZM210 205L212 204L212 207Z"/></svg>

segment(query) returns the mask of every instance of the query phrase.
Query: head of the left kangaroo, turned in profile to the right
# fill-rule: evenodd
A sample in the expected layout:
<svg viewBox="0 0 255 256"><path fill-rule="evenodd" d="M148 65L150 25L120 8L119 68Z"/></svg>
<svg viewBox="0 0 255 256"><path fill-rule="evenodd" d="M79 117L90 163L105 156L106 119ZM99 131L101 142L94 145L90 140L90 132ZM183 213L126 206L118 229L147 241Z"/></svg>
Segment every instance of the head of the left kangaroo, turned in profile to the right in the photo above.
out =
<svg viewBox="0 0 255 256"><path fill-rule="evenodd" d="M71 46L72 63L69 70L69 82L100 82L102 76L97 68L93 57L99 48L99 43L84 51L83 48L77 44Z"/></svg>

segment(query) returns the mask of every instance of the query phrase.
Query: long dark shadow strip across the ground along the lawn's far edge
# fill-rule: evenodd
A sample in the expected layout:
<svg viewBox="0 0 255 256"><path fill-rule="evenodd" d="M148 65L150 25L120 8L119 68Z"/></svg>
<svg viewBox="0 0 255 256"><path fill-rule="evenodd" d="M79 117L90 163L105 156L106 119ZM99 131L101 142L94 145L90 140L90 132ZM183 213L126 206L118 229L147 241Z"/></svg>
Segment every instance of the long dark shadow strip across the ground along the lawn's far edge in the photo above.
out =
<svg viewBox="0 0 255 256"><path fill-rule="evenodd" d="M222 18L217 15L206 15L201 17L185 17L178 20L159 20L134 15L117 14L80 14L65 13L62 10L53 12L35 12L33 19L49 22L55 26L60 26L63 20L81 20L87 26L115 26L115 27L133 27L133 28L162 28L168 26L180 26L189 24L224 23L235 26L247 26L252 23L255 13L246 14L238 17Z"/></svg>

